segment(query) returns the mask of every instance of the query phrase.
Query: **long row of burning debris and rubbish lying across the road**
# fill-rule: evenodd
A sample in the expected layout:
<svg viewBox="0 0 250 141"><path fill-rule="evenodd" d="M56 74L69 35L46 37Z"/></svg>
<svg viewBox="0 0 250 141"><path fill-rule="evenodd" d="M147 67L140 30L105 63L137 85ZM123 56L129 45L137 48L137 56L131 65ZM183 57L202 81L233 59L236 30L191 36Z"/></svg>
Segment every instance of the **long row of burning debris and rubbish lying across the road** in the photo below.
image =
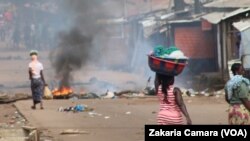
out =
<svg viewBox="0 0 250 141"><path fill-rule="evenodd" d="M147 81L147 85L142 90L136 90L136 89L117 89L120 91L115 90L106 90L106 92L100 94L97 92L77 92L76 90L73 90L74 87L69 86L62 86L59 89L55 88L51 91L51 94L54 99L115 99L115 98L146 98L146 97L152 97L155 96L155 88L152 86L149 86L150 79ZM74 84L85 86L85 87L91 87L91 85L95 86L95 88L110 88L115 87L113 84L110 84L105 81L99 81L96 78L91 78L88 83L78 83ZM133 84L134 85L134 84ZM116 88L116 87L115 87ZM211 90L211 89L205 89L203 91L195 91L194 89L185 89L181 88L183 96L188 97L194 97L194 96L217 96L224 95L224 90Z"/></svg>

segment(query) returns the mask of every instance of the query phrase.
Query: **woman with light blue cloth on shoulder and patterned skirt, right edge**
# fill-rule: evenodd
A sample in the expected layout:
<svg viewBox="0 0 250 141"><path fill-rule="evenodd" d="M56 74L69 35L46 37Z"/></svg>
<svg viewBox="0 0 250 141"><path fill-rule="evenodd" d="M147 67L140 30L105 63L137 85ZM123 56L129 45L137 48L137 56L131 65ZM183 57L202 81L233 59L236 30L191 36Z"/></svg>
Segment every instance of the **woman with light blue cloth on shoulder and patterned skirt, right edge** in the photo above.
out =
<svg viewBox="0 0 250 141"><path fill-rule="evenodd" d="M228 122L231 125L250 125L250 82L244 78L240 63L231 67L233 77L225 86L226 101L229 103Z"/></svg>

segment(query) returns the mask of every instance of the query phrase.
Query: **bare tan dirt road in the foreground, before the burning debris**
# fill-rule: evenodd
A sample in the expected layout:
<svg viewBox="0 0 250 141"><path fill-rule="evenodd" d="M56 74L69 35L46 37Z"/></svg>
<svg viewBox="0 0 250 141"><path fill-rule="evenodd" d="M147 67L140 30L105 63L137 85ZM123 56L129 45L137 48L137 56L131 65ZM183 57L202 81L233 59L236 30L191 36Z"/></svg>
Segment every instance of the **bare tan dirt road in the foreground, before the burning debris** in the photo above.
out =
<svg viewBox="0 0 250 141"><path fill-rule="evenodd" d="M185 98L193 124L226 124L227 104L222 98ZM146 99L111 99L80 100L97 115L89 112L58 112L61 106L72 106L71 100L45 101L45 110L31 110L31 101L19 101L16 106L28 119L30 124L46 129L56 141L142 141L144 125L156 124L158 101ZM100 115L98 115L100 114ZM66 129L79 129L88 132L83 135L60 135Z"/></svg>

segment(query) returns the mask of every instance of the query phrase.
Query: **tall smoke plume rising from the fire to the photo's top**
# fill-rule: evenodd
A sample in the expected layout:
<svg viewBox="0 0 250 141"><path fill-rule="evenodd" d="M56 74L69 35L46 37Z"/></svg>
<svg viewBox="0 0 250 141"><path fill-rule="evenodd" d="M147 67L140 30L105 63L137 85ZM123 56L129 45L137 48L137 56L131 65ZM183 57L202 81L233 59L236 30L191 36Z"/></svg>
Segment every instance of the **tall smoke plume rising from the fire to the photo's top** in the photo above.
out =
<svg viewBox="0 0 250 141"><path fill-rule="evenodd" d="M65 26L65 31L58 34L58 46L50 55L60 87L70 86L74 71L81 69L95 54L93 41L105 35L104 26L97 21L114 16L104 4L99 0L62 1L61 13L69 27Z"/></svg>

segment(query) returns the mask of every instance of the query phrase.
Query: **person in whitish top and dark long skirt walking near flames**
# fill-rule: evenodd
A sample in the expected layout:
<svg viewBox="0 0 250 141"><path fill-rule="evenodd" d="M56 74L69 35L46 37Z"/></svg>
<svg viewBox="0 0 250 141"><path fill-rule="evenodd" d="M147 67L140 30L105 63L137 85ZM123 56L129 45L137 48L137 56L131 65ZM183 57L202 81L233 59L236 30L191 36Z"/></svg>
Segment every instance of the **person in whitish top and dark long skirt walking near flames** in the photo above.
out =
<svg viewBox="0 0 250 141"><path fill-rule="evenodd" d="M43 108L42 97L44 94L45 79L43 76L43 64L38 61L38 51L30 52L31 62L29 63L29 77L31 80L31 92L33 98L32 109L36 109L36 104L40 103L40 108Z"/></svg>

